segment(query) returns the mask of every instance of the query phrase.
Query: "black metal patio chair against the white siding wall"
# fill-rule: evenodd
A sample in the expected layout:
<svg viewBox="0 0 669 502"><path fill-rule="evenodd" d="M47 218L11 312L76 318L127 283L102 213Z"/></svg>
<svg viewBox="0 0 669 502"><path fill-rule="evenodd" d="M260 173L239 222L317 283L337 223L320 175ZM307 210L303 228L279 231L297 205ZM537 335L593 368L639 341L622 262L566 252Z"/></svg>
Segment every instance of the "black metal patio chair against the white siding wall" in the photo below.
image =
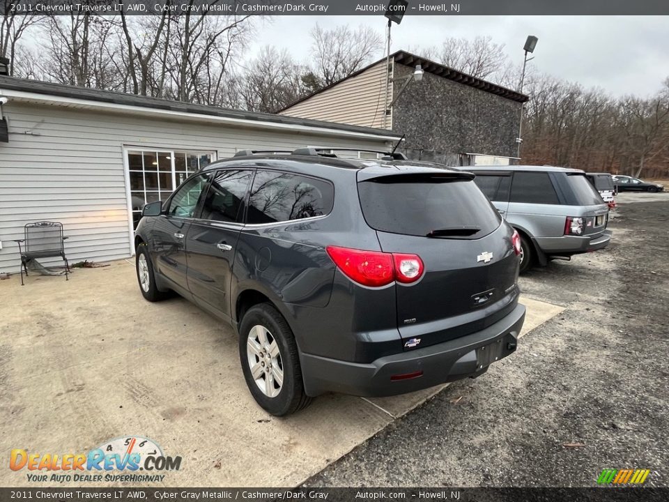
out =
<svg viewBox="0 0 669 502"><path fill-rule="evenodd" d="M21 285L23 286L23 274L28 276L28 262L38 258L61 257L65 262L65 280L68 279L70 264L65 255L65 240L63 236L63 225L59 222L35 222L28 223L24 227L24 238L15 243L19 245L21 255ZM21 243L24 243L23 247Z"/></svg>

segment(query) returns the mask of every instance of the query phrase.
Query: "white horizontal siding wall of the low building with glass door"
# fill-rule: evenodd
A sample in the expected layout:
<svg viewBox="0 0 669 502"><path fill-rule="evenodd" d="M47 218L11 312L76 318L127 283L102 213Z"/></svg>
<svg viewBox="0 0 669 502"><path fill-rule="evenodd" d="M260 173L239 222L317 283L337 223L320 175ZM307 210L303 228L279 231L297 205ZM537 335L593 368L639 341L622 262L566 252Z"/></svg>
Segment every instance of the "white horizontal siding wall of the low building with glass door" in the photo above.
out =
<svg viewBox="0 0 669 502"><path fill-rule="evenodd" d="M9 143L0 143L0 272L19 271L28 222L63 223L70 263L132 254L123 146L214 151L298 146L383 148L378 139L233 128L132 114L10 102ZM44 263L49 263L43 260Z"/></svg>

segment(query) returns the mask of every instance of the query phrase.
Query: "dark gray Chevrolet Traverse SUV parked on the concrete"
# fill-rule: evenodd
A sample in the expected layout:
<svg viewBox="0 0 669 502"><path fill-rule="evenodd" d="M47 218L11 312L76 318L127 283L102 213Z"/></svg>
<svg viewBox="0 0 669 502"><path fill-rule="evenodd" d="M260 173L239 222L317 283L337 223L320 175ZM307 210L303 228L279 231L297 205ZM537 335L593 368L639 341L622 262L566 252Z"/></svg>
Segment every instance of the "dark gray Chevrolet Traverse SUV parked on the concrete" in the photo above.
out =
<svg viewBox="0 0 669 502"><path fill-rule="evenodd" d="M474 175L403 155L243 151L147 204L137 279L231 324L269 413L408 393L516 350L518 234Z"/></svg>

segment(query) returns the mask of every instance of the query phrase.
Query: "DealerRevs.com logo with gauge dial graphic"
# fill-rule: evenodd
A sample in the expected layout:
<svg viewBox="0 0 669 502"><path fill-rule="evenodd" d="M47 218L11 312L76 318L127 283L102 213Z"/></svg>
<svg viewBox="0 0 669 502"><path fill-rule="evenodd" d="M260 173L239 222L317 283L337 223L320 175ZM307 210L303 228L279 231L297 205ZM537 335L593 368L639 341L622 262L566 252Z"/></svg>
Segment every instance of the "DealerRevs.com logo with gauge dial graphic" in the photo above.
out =
<svg viewBox="0 0 669 502"><path fill-rule="evenodd" d="M10 469L28 471L31 482L161 482L162 472L178 471L180 466L181 457L164 455L155 441L141 436L105 441L88 453L32 453L15 448L9 458Z"/></svg>

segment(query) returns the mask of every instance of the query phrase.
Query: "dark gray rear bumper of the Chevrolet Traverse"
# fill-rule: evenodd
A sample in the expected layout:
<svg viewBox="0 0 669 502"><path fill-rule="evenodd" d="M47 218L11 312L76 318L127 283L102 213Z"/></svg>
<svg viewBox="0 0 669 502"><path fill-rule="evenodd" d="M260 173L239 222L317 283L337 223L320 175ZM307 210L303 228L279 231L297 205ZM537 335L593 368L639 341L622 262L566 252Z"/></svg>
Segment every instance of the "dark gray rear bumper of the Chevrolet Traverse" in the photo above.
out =
<svg viewBox="0 0 669 502"><path fill-rule="evenodd" d="M506 317L477 333L393 354L372 363L302 353L300 362L307 395L337 392L366 397L398 395L486 372L490 363L516 350L525 307L516 305ZM394 375L422 372L420 377L393 381Z"/></svg>

